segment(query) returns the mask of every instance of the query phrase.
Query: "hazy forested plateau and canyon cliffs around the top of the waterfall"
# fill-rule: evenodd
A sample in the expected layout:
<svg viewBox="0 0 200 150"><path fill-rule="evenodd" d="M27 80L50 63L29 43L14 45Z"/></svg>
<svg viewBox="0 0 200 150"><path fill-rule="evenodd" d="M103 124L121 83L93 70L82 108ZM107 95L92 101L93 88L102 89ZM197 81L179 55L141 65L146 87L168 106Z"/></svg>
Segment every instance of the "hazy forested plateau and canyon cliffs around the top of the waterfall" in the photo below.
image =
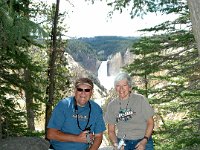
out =
<svg viewBox="0 0 200 150"><path fill-rule="evenodd" d="M136 37L117 36L70 39L66 52L83 68L96 76L101 61L109 60L108 73L112 75L129 62L131 53L127 49L132 47L137 40Z"/></svg>

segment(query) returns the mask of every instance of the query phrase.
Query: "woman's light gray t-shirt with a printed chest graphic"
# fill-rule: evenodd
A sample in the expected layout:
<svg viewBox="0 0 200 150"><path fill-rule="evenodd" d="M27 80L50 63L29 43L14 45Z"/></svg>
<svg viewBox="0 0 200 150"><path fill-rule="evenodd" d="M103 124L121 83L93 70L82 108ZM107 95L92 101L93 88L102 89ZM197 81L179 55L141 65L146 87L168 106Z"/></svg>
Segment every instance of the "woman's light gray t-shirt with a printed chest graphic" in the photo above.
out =
<svg viewBox="0 0 200 150"><path fill-rule="evenodd" d="M140 94L131 94L126 100L119 98L109 102L105 114L107 124L116 124L117 137L136 140L145 135L147 120L154 110L147 99Z"/></svg>

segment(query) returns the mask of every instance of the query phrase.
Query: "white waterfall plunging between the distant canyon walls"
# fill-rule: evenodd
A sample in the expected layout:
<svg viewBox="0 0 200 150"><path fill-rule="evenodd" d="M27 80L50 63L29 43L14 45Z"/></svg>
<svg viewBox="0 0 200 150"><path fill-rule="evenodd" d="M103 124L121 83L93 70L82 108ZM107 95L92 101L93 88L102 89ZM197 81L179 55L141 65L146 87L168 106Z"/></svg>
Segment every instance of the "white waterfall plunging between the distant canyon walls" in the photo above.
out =
<svg viewBox="0 0 200 150"><path fill-rule="evenodd" d="M98 69L98 79L107 90L113 88L114 76L108 76L108 61L102 61Z"/></svg>

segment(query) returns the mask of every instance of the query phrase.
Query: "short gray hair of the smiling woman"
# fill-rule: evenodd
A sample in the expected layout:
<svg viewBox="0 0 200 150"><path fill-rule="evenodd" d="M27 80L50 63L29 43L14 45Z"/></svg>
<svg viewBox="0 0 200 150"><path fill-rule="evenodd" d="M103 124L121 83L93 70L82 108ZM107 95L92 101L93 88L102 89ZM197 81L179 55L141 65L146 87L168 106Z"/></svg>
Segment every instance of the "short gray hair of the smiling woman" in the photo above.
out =
<svg viewBox="0 0 200 150"><path fill-rule="evenodd" d="M114 80L114 86L116 86L117 83L121 80L126 80L128 82L129 87L132 87L132 80L128 73L121 72L121 73L117 74L117 76L115 77L115 80Z"/></svg>

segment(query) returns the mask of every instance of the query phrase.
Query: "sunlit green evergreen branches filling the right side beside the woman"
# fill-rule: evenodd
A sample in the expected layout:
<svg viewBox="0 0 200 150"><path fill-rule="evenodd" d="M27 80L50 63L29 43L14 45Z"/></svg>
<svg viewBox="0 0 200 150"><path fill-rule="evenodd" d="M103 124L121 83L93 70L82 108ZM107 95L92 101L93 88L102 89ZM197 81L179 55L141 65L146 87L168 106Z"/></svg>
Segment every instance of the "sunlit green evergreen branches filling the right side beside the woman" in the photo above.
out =
<svg viewBox="0 0 200 150"><path fill-rule="evenodd" d="M187 13L144 29L167 32L133 44L136 59L124 68L135 79L134 90L148 97L156 110L153 138L158 150L195 149L200 145L200 65ZM180 24L187 28L173 27Z"/></svg>

